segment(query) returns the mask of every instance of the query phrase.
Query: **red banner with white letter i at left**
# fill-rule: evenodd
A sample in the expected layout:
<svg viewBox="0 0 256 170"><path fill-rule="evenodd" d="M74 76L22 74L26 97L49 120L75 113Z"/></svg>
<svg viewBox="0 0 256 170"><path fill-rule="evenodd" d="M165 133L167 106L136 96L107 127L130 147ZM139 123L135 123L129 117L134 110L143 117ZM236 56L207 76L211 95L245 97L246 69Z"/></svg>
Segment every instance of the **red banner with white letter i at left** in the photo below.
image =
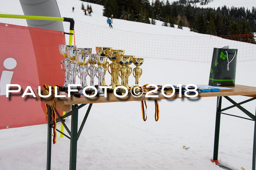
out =
<svg viewBox="0 0 256 170"><path fill-rule="evenodd" d="M0 23L0 37L0 129L47 123L44 104L22 95L27 86L37 95L38 86L63 85L64 58L58 46L65 44L65 36L61 31ZM21 91L7 98L6 84L19 84Z"/></svg>

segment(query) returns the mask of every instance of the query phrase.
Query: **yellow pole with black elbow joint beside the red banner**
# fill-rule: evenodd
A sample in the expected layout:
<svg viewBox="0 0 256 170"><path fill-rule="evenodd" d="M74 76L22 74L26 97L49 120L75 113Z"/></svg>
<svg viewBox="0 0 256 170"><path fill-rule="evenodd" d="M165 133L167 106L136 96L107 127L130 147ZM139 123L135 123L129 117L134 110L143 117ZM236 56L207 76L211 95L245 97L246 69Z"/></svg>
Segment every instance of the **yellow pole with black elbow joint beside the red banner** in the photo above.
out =
<svg viewBox="0 0 256 170"><path fill-rule="evenodd" d="M72 18L66 18L66 17L51 17L51 16L31 16L31 15L10 15L10 14L0 14L0 18L15 18L15 19L33 19L33 20L52 20L52 21L65 21L70 23L70 31L69 33L69 41L68 45L72 45L73 35L74 35L74 26L75 21ZM65 115L66 112L63 112L63 115ZM60 131L64 132L64 126L61 123L61 129ZM60 134L60 137L63 138L63 134Z"/></svg>

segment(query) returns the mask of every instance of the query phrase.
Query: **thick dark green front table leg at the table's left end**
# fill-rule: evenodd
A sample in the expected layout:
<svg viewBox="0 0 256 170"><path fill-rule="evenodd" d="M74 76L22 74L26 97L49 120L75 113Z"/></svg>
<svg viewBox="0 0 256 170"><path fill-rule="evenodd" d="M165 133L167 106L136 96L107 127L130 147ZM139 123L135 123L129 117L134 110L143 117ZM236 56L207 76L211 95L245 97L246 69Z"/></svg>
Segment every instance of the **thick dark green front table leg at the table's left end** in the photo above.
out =
<svg viewBox="0 0 256 170"><path fill-rule="evenodd" d="M76 151L78 140L78 105L72 106L74 110L71 116L71 139L70 139L70 157L69 157L69 170L76 169Z"/></svg>

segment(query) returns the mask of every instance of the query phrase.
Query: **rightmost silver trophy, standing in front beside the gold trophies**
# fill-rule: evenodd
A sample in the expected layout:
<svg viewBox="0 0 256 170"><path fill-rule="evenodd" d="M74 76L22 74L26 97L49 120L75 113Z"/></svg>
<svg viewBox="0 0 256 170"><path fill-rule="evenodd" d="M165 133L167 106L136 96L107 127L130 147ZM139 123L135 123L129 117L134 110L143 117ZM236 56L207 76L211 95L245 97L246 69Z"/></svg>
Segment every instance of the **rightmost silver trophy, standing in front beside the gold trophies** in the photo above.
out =
<svg viewBox="0 0 256 170"><path fill-rule="evenodd" d="M96 75L96 76L99 79L97 94L99 97L104 96L103 89L100 88L99 86L102 86L102 79L105 77L105 74L106 74L106 68L104 68L103 65L107 62L107 60L108 60L107 56L104 56L104 57L97 56L97 58L96 58L96 63L98 64L98 68L97 68L98 75Z"/></svg>

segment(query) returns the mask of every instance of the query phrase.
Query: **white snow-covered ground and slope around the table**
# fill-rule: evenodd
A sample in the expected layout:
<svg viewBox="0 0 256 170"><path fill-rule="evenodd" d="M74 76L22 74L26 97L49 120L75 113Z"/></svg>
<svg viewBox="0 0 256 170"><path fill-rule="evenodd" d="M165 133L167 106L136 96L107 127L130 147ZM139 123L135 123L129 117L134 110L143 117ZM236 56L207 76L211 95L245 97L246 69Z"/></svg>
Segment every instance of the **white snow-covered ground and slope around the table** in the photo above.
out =
<svg viewBox="0 0 256 170"><path fill-rule="evenodd" d="M218 0L215 0L218 1ZM222 4L222 1L218 1ZM239 1L237 1L239 2ZM92 17L84 16L79 0L57 0L62 17L72 17L95 25L105 24L102 6L91 4ZM213 2L212 2L213 3ZM224 3L224 2L223 2ZM90 4L90 3L89 3ZM235 4L235 3L233 3ZM241 5L248 3L241 2ZM84 3L85 7L87 3ZM72 13L72 6L75 12ZM0 12L23 15L18 0L1 4ZM200 36L189 30L167 28L114 19L115 29L146 32L159 35ZM76 41L82 44L83 42ZM113 47L115 49L115 47ZM124 49L125 50L125 49ZM239 49L238 49L239 51ZM146 59L142 66L140 84L208 84L210 63L176 60ZM239 62L236 84L256 86L256 61ZM134 67L134 66L132 66ZM96 81L96 79L95 79ZM135 79L131 75L129 84ZM106 76L110 83L110 76ZM237 102L245 96L231 97ZM159 100L160 118L154 120L154 101L147 102L147 121L142 120L140 102L93 104L87 122L78 140L77 169L179 169L219 170L210 161L213 155L216 97L197 99ZM243 104L255 113L256 101ZM230 106L223 99L222 107ZM86 106L79 110L82 122ZM245 116L238 109L228 114ZM66 119L70 125L71 118ZM60 123L57 124L60 129ZM254 122L221 116L218 160L234 170L252 169ZM0 130L0 169L34 170L46 168L47 125ZM59 134L58 134L59 136ZM188 150L183 146L190 147ZM57 137L52 146L52 169L68 169L69 139Z"/></svg>

